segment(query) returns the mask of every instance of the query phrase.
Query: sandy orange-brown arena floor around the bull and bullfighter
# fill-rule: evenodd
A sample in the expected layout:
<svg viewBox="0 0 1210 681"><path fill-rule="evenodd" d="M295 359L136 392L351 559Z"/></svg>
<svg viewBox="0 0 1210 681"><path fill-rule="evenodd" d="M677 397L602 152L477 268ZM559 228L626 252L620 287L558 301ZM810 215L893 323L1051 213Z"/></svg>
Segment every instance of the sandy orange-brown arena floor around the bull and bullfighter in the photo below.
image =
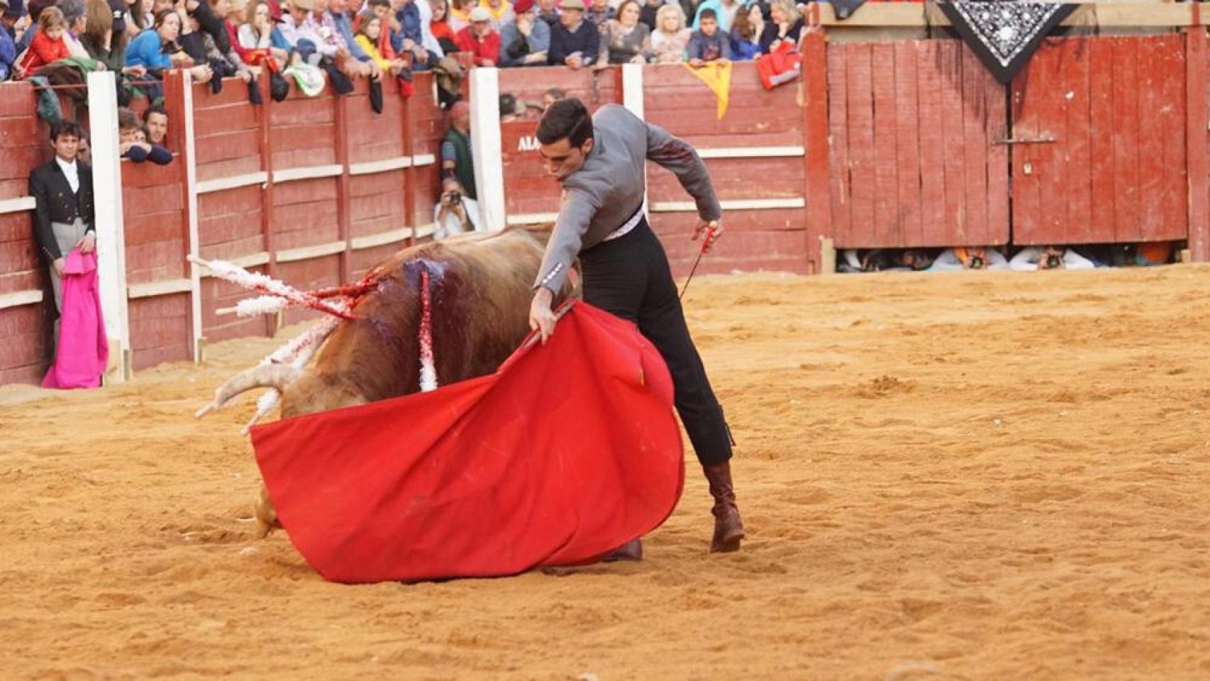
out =
<svg viewBox="0 0 1210 681"><path fill-rule="evenodd" d="M342 587L252 539L252 399L191 412L280 340L4 387L0 677L1206 679L1208 288L695 281L750 538L707 554L691 468L644 562L567 576Z"/></svg>

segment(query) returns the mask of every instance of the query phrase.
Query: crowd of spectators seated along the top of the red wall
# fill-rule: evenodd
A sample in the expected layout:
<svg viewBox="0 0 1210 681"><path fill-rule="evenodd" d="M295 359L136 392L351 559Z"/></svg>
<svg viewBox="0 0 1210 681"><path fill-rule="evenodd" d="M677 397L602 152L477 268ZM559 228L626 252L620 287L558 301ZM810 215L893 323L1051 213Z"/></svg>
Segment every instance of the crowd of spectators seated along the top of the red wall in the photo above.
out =
<svg viewBox="0 0 1210 681"><path fill-rule="evenodd" d="M0 0L0 81L69 60L155 99L165 69L221 87L263 69L399 76L454 52L478 65L699 65L757 58L803 31L795 0ZM318 75L312 71L318 71ZM304 88L306 91L307 88Z"/></svg>

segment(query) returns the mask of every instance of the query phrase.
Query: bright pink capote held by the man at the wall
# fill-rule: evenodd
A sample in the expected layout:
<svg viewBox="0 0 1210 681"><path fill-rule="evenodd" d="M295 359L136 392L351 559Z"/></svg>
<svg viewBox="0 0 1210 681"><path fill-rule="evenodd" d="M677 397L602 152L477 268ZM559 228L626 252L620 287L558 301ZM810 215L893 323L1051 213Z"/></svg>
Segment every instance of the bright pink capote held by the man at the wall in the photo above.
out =
<svg viewBox="0 0 1210 681"><path fill-rule="evenodd" d="M109 360L105 321L100 316L97 252L73 248L63 269L63 313L54 364L44 388L96 388Z"/></svg>

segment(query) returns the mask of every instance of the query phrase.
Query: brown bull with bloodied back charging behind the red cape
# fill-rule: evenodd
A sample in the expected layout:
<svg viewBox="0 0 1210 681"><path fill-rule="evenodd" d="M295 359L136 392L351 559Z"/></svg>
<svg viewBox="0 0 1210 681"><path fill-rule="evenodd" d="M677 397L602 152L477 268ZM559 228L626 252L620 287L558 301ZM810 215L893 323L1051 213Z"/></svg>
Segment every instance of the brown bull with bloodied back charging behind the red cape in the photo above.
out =
<svg viewBox="0 0 1210 681"><path fill-rule="evenodd" d="M439 383L495 371L530 331L529 304L549 231L511 229L405 248L371 270L375 287L305 369L263 364L218 388L214 406L253 388L281 393L282 417L419 392L421 275L432 299L433 365ZM567 292L563 293L565 298ZM267 490L258 535L280 526Z"/></svg>

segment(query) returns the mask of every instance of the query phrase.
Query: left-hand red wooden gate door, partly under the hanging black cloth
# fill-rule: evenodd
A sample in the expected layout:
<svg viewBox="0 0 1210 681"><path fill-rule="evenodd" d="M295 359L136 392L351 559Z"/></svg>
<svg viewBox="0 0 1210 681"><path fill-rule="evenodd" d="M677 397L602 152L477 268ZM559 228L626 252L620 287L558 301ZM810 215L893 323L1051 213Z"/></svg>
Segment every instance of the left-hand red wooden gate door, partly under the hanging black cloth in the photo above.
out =
<svg viewBox="0 0 1210 681"><path fill-rule="evenodd" d="M837 248L1009 238L1004 88L957 40L828 46Z"/></svg>

